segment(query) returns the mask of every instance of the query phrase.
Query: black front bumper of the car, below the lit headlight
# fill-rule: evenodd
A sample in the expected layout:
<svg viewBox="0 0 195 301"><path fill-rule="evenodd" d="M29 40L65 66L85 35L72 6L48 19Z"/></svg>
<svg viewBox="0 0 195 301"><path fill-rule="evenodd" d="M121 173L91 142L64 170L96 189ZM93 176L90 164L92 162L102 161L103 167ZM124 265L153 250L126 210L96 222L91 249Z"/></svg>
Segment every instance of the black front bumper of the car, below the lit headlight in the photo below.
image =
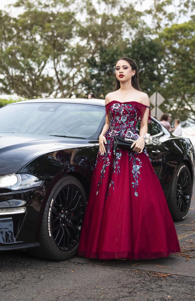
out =
<svg viewBox="0 0 195 301"><path fill-rule="evenodd" d="M48 184L26 191L0 191L0 251L38 247L38 219Z"/></svg>

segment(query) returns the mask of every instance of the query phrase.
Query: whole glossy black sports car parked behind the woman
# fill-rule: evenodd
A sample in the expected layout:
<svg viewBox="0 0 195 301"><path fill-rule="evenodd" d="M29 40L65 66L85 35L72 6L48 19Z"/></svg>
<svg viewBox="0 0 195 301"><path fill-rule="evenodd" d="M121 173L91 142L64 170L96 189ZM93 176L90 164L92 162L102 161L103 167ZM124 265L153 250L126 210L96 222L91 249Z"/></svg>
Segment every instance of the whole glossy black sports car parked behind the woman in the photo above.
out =
<svg viewBox="0 0 195 301"><path fill-rule="evenodd" d="M0 108L0 250L28 249L51 260L76 254L104 123L98 99L36 99ZM148 132L151 163L173 219L181 221L192 195L193 145L153 117Z"/></svg>

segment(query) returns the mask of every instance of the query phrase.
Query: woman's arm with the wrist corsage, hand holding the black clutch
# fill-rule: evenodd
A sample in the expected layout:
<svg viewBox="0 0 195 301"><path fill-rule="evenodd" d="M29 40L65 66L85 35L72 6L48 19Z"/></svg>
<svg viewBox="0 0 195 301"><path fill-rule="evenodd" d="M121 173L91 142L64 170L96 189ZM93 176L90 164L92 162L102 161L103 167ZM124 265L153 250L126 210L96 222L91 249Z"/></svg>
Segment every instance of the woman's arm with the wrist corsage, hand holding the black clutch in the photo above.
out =
<svg viewBox="0 0 195 301"><path fill-rule="evenodd" d="M142 104L145 104L146 106L150 106L149 97L146 93L144 93L142 100ZM141 136L145 136L148 132L148 117L149 117L149 108L146 108L146 112L140 122L140 138L136 140L131 148L133 151L137 151L139 154L142 153L143 148L145 146L145 138Z"/></svg>

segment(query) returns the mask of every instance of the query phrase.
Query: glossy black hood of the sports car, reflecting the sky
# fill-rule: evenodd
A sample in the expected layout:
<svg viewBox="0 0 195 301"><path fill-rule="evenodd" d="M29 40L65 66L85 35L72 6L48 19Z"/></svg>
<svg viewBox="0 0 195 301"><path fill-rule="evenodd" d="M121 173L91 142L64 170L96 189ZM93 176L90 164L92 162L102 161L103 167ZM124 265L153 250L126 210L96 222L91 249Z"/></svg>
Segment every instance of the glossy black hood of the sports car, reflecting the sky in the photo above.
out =
<svg viewBox="0 0 195 301"><path fill-rule="evenodd" d="M88 143L88 140L78 138L0 133L0 175L16 173L43 154Z"/></svg>

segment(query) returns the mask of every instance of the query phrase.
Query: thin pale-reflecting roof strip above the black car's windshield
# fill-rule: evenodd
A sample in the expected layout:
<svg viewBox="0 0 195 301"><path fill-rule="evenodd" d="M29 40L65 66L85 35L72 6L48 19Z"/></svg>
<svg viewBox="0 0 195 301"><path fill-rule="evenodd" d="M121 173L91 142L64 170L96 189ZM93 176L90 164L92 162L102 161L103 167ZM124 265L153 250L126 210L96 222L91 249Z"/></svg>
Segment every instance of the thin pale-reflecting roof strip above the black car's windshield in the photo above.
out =
<svg viewBox="0 0 195 301"><path fill-rule="evenodd" d="M49 103L70 103L70 104L94 104L96 106L105 106L105 100L104 99L98 99L98 98L37 98L37 99L28 99L24 101L17 101L13 102L8 105L14 105L14 104L30 104L30 103L40 103L40 102L49 102Z"/></svg>

